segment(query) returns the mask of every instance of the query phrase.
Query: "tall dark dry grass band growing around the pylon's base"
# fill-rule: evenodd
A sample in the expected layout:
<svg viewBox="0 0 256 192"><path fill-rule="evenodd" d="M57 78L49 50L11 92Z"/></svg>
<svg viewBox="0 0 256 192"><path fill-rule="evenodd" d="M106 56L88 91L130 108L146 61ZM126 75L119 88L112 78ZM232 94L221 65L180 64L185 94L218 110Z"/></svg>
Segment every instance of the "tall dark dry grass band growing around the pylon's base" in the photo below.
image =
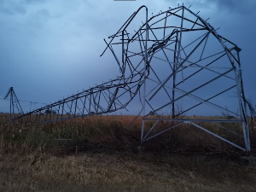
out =
<svg viewBox="0 0 256 192"><path fill-rule="evenodd" d="M0 115L0 148L3 151L29 153L33 148L44 148L56 153L69 153L85 149L109 149L136 151L140 143L142 117L128 115L96 115L80 119L71 119L45 125L15 124L9 122L8 114ZM198 117L196 117L198 119ZM154 121L145 122L145 132L154 125ZM243 138L230 134L212 123L200 123L207 130L243 146ZM224 125L222 123L221 125ZM171 121L160 121L152 134L172 126ZM241 125L224 125L242 135ZM149 135L150 136L150 135ZM253 152L255 135L251 134ZM148 151L177 154L241 154L239 149L224 143L194 125L179 125L158 137L143 143Z"/></svg>

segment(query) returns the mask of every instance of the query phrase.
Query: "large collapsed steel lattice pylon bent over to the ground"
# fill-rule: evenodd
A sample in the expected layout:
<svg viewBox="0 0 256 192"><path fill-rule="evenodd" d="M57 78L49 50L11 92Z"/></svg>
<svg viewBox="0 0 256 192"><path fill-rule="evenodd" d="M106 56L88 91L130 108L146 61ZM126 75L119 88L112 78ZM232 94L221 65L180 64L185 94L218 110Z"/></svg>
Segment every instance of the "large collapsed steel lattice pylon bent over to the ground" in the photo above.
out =
<svg viewBox="0 0 256 192"><path fill-rule="evenodd" d="M198 13L179 6L148 18L148 9L142 6L108 37L109 42L104 39L107 48L102 55L107 50L113 54L120 72L117 79L16 119L48 123L111 113L126 108L138 96L142 106L139 115L143 113L142 143L185 124L250 152L241 49L218 35L218 29ZM235 101L230 101L230 91L236 91ZM186 108L177 110L178 103ZM43 114L45 110L56 113ZM210 114L214 116L209 117ZM160 130L160 122L167 121L172 121L172 125ZM220 129L227 133L220 136ZM230 134L241 139L241 143L224 137Z"/></svg>

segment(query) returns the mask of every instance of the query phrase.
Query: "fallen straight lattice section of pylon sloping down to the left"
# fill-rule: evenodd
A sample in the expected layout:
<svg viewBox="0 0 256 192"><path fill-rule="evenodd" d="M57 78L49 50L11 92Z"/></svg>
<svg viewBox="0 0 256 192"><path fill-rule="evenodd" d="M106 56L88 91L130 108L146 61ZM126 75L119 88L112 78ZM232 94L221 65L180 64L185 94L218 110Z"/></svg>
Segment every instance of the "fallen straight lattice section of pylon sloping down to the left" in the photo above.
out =
<svg viewBox="0 0 256 192"><path fill-rule="evenodd" d="M125 108L137 95L143 82L142 76L139 75L125 79L125 84L123 84L123 80L122 78L110 80L43 108L20 115L14 120L21 123L42 124L94 114L111 113Z"/></svg>

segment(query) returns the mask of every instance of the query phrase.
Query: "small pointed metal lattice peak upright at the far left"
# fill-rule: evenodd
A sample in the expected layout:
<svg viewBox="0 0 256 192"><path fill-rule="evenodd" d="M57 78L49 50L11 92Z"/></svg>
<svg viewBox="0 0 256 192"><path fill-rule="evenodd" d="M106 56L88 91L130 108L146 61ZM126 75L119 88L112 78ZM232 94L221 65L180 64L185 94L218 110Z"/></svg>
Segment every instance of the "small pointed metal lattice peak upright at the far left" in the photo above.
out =
<svg viewBox="0 0 256 192"><path fill-rule="evenodd" d="M10 102L10 105L9 105L10 119L15 118L15 114L24 114L13 87L9 88L9 91L4 97L4 99L6 99L8 96L9 96L9 102ZM15 113L15 108L17 109L17 113Z"/></svg>

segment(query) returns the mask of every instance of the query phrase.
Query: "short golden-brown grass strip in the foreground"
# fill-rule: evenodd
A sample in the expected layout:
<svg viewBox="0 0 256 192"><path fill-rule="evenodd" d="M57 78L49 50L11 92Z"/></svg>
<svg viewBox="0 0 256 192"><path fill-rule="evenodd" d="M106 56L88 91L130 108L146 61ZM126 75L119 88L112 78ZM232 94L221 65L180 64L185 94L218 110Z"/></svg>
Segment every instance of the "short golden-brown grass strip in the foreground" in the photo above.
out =
<svg viewBox="0 0 256 192"><path fill-rule="evenodd" d="M129 153L6 154L1 191L255 191L256 170L228 160Z"/></svg>

